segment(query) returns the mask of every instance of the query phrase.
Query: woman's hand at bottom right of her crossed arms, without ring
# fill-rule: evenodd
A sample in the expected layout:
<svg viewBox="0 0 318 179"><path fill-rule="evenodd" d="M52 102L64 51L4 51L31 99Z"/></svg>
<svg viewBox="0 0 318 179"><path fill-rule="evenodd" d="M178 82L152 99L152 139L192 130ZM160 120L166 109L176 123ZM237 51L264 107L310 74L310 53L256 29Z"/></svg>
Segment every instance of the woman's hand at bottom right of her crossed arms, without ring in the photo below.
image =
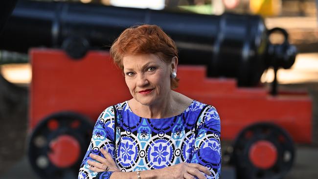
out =
<svg viewBox="0 0 318 179"><path fill-rule="evenodd" d="M206 167L200 164L184 162L159 170L159 179L194 179L194 177L206 179L203 173L206 175L212 174Z"/></svg>

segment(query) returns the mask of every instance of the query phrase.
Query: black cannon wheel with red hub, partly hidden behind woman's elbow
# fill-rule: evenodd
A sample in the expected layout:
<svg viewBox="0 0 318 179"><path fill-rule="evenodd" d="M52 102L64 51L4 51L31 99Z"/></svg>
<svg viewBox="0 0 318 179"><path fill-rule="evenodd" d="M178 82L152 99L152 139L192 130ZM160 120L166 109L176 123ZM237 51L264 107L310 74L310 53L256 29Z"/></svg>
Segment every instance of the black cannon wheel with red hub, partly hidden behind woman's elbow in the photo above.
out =
<svg viewBox="0 0 318 179"><path fill-rule="evenodd" d="M43 179L77 178L93 125L84 115L59 112L45 117L29 139L28 157Z"/></svg>

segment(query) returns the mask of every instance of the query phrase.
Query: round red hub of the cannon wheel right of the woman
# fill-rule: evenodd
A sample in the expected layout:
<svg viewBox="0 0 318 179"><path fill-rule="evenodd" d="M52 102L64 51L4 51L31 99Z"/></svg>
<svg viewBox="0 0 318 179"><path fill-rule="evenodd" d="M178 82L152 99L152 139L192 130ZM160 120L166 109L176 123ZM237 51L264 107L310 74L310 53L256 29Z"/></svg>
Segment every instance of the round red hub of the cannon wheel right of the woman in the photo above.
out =
<svg viewBox="0 0 318 179"><path fill-rule="evenodd" d="M261 169L271 168L277 160L277 149L267 140L259 140L252 144L249 151L250 161Z"/></svg>

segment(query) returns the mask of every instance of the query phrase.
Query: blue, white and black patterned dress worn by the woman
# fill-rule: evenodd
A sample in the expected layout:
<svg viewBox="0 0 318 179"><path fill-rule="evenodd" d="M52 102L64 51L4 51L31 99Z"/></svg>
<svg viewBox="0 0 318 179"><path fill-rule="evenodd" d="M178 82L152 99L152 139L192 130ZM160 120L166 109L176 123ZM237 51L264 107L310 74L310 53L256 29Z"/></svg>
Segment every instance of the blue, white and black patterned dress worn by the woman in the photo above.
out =
<svg viewBox="0 0 318 179"><path fill-rule="evenodd" d="M78 179L109 179L113 172L92 172L90 153L113 156L122 172L160 169L181 162L199 163L218 179L221 171L220 117L214 107L193 101L181 114L148 119L131 111L127 101L98 117Z"/></svg>

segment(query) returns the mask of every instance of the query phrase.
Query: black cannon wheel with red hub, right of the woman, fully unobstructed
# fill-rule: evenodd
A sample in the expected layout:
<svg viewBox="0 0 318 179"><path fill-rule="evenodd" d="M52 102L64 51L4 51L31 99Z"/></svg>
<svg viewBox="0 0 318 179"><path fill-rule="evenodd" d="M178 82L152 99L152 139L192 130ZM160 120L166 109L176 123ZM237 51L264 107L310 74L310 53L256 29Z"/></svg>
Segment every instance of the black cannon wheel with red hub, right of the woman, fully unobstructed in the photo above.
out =
<svg viewBox="0 0 318 179"><path fill-rule="evenodd" d="M257 123L237 136L231 163L239 179L282 179L294 157L294 143L285 130L272 123Z"/></svg>

